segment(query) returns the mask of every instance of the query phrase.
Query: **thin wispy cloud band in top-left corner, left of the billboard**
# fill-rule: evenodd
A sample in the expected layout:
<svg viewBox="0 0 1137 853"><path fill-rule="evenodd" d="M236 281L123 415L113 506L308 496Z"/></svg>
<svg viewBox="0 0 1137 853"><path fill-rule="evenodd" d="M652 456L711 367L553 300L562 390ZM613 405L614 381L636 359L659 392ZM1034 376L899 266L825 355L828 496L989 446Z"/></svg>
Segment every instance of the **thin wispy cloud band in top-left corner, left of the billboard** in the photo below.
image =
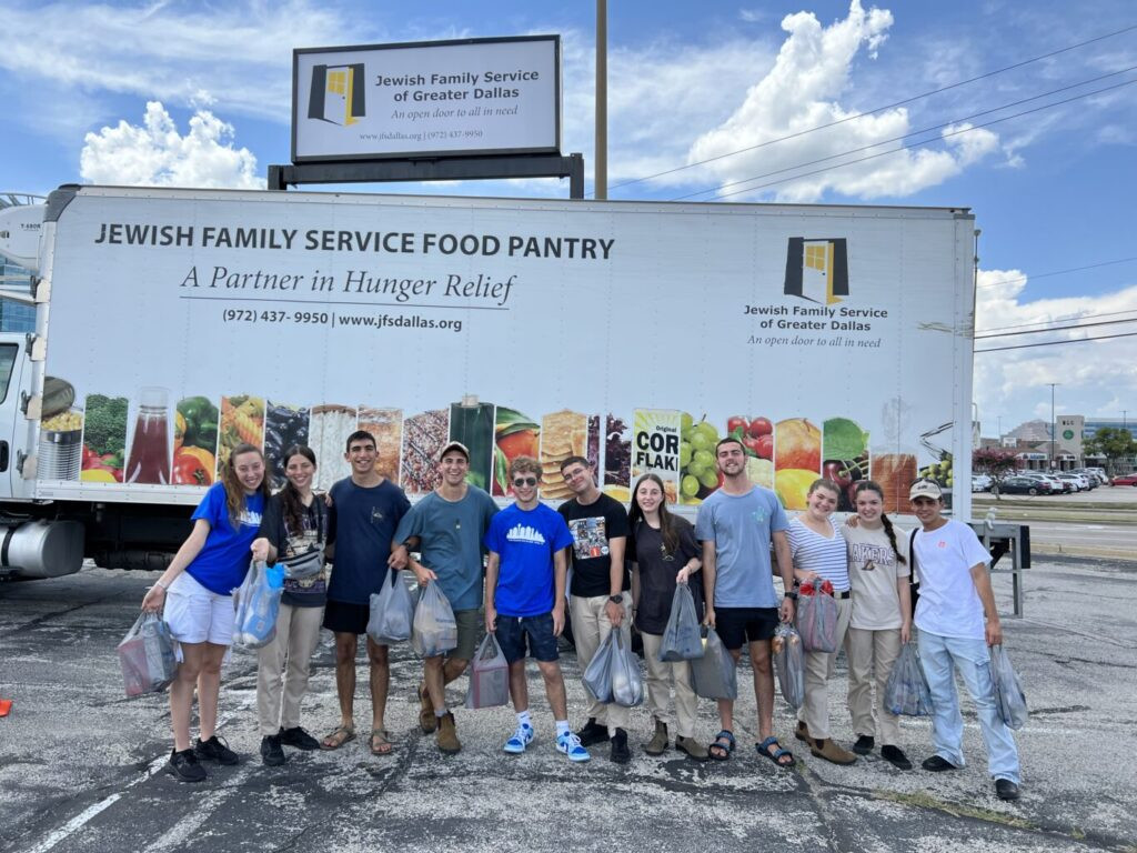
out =
<svg viewBox="0 0 1137 853"><path fill-rule="evenodd" d="M6 6L10 6L6 3ZM287 124L291 48L351 35L322 3L47 3L5 9L0 68L42 89L100 91L202 105ZM208 97L208 96L207 96ZM204 105L202 105L204 106Z"/></svg>

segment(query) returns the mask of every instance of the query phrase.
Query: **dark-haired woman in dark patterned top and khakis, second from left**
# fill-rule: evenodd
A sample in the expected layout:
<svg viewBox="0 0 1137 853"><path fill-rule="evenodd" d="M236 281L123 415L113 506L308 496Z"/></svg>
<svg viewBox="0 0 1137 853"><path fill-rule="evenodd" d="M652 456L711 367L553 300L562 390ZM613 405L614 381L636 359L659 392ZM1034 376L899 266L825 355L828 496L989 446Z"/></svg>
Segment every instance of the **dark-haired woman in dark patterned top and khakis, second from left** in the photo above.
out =
<svg viewBox="0 0 1137 853"><path fill-rule="evenodd" d="M292 445L284 452L284 488L268 500L260 536L252 543L254 560L284 565L276 635L257 653L260 757L271 765L284 763L284 746L319 748L300 726L300 701L327 602L327 506L312 489L312 448Z"/></svg>

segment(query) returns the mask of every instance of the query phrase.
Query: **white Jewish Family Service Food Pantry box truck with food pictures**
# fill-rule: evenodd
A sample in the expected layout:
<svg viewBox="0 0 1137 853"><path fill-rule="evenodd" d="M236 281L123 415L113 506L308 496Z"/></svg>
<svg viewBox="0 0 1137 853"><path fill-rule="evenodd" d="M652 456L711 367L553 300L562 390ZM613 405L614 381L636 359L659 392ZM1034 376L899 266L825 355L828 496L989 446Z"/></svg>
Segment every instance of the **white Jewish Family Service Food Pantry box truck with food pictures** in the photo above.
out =
<svg viewBox="0 0 1137 853"><path fill-rule="evenodd" d="M376 438L412 499L447 440L503 503L582 456L683 513L732 434L789 510L918 475L970 514L974 221L963 208L65 185L0 222L36 328L0 336L0 572L163 566L240 442ZM953 459L954 470L953 470Z"/></svg>

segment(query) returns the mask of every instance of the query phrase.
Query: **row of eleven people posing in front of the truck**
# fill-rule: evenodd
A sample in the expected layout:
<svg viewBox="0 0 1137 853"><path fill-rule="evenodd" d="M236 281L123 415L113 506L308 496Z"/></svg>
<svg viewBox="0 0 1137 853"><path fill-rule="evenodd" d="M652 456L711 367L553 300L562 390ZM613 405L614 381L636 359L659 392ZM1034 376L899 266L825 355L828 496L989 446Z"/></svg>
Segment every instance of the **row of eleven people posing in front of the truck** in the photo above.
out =
<svg viewBox="0 0 1137 853"><path fill-rule="evenodd" d="M356 655L360 635L366 637L370 597L384 583L401 582L395 571L408 570L421 586L438 583L457 623L456 647L425 659L417 689L418 726L434 734L442 753L462 750L446 685L466 670L484 626L509 666L516 729L505 740L506 753L524 753L534 740L525 676L525 661L532 657L553 712L555 748L570 761L583 762L590 759L589 747L607 743L612 761L631 759L629 709L589 696L587 722L576 731L570 726L558 649L567 611L582 669L612 631L630 644L634 623L642 636L654 723L644 752L658 755L671 746L673 690L674 748L695 761L728 760L736 748L735 702L717 699L721 730L704 745L695 730L690 666L658 660L672 597L682 583L690 588L703 622L714 628L736 662L746 646L757 702L755 747L778 767L789 767L794 755L773 731L771 639L780 622L794 620L799 585L828 580L838 599L837 641L848 656L848 706L857 740L848 752L830 734L827 685L832 653L806 654L805 702L795 735L814 756L847 764L873 751L879 728L882 757L911 769L898 743L896 718L883 706L883 686L901 646L912 639L908 590L915 565L920 595L914 624L935 704L935 754L923 768L963 765L953 672L958 670L979 710L996 793L1016 798L1018 754L995 709L987 664L987 646L1002 641L987 569L990 557L970 528L941 515L939 487L930 481L912 487L922 528L911 537L893 527L882 512L881 489L872 482L857 487L856 515L846 524L835 520L838 487L829 480L813 485L808 508L790 521L773 491L750 482L738 440L723 439L715 455L722 485L699 506L692 527L669 512L657 475L646 474L636 483L626 512L599 489L594 466L581 456L561 463L573 497L557 510L539 499L541 463L514 458L507 473L514 503L499 511L485 491L468 485L470 453L458 441L448 442L437 456L441 485L414 506L376 470L375 440L366 431L348 438L351 475L327 496L313 491L316 459L309 448L285 450L287 483L276 495L269 495L260 450L234 448L221 482L194 512L190 537L142 603L144 610L164 608L179 641L180 663L169 691L174 748L167 770L183 781L198 781L206 778L201 761L239 761L215 729L221 665L233 633L231 590L240 586L250 554L285 568L276 632L258 652L260 754L266 764L283 763L284 746L335 750L356 738ZM773 583L771 552L781 596ZM304 571L290 571L300 564ZM334 636L340 720L317 740L300 726L300 703L321 627ZM367 748L385 755L392 750L384 727L388 648L371 637L365 644L372 698ZM194 689L199 736L191 743Z"/></svg>

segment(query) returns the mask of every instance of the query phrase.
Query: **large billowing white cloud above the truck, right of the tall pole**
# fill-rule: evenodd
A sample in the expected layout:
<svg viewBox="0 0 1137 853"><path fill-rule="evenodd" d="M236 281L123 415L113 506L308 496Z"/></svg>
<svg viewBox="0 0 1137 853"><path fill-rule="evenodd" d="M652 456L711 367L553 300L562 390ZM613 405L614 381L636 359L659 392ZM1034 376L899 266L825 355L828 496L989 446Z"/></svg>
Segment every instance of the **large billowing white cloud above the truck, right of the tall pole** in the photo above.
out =
<svg viewBox="0 0 1137 853"><path fill-rule="evenodd" d="M856 110L839 102L849 88L858 53L864 50L874 58L891 25L890 11L875 7L865 11L860 0L852 0L848 16L828 27L811 13L788 15L782 28L789 35L773 67L750 86L732 115L695 140L688 162L721 157L699 167L699 172L704 179L720 184L747 182L728 191L750 188L753 192L745 194L772 192L783 201L815 201L827 192L861 199L908 196L943 183L997 151L996 134L960 125L945 129L944 141L936 148L903 150L899 142L889 142L841 156L912 131L904 108L845 121L855 116ZM835 122L840 124L813 131ZM948 135L952 132L957 135ZM803 135L773 141L798 133ZM747 147L754 150L723 157ZM871 157L883 151L889 152ZM861 158L868 159L840 166L843 162ZM797 174L795 167L799 164L818 160L822 163L805 168L818 174L780 182ZM763 177L749 183L755 176ZM773 182L778 182L778 189L761 187Z"/></svg>

